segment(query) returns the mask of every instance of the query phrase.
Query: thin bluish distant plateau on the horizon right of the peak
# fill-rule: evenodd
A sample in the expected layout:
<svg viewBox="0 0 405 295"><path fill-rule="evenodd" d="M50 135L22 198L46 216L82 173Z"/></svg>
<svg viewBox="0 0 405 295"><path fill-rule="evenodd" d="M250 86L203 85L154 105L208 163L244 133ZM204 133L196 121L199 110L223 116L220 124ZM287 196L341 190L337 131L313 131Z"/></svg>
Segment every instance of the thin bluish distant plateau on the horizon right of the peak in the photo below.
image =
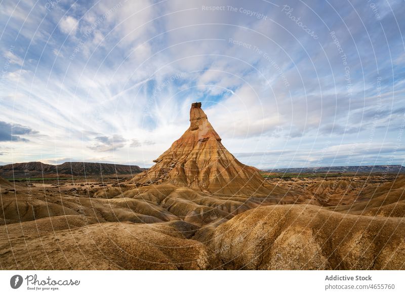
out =
<svg viewBox="0 0 405 295"><path fill-rule="evenodd" d="M401 165L332 166L307 168L264 169L273 173L405 173Z"/></svg>

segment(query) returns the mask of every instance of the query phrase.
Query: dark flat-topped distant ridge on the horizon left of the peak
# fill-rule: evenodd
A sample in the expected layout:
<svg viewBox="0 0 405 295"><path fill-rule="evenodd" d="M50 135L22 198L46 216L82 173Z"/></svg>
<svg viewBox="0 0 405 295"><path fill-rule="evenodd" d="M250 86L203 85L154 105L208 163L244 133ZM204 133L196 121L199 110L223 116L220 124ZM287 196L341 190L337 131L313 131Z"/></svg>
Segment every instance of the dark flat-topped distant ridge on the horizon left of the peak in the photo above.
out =
<svg viewBox="0 0 405 295"><path fill-rule="evenodd" d="M3 178L56 178L84 177L101 175L131 175L145 171L136 165L119 165L109 163L64 162L59 165L42 162L14 163L0 166Z"/></svg>

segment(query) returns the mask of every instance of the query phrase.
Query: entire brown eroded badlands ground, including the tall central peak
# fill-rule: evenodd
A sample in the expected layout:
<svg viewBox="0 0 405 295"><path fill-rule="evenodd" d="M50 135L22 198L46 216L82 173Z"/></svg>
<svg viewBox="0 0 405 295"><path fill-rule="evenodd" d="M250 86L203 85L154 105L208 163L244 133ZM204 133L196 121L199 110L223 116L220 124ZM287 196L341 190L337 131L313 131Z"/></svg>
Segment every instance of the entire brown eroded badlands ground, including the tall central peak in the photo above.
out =
<svg viewBox="0 0 405 295"><path fill-rule="evenodd" d="M51 165L56 179L1 178L0 268L405 269L403 174L261 172L200 103L154 162L125 177Z"/></svg>

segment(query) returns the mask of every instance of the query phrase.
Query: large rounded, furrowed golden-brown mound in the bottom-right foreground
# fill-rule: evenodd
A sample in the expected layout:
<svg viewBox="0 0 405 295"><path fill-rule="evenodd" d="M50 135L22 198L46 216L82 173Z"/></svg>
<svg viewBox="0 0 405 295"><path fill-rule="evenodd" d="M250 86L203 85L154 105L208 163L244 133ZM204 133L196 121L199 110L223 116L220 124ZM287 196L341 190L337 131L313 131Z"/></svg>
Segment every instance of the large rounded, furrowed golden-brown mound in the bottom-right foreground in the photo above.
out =
<svg viewBox="0 0 405 295"><path fill-rule="evenodd" d="M396 219L274 205L219 225L209 244L226 269L404 269L403 236Z"/></svg>

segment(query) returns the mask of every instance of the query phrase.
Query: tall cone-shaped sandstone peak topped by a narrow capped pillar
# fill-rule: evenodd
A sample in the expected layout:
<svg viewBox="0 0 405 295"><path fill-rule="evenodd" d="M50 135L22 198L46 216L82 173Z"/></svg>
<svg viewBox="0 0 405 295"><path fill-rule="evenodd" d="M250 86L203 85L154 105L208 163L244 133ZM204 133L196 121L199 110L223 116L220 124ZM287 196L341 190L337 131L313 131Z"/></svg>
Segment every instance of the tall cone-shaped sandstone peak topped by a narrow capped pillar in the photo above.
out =
<svg viewBox="0 0 405 295"><path fill-rule="evenodd" d="M137 175L133 182L169 181L176 186L224 195L269 193L258 170L240 163L222 145L201 103L191 105L188 130L154 162L149 171Z"/></svg>

